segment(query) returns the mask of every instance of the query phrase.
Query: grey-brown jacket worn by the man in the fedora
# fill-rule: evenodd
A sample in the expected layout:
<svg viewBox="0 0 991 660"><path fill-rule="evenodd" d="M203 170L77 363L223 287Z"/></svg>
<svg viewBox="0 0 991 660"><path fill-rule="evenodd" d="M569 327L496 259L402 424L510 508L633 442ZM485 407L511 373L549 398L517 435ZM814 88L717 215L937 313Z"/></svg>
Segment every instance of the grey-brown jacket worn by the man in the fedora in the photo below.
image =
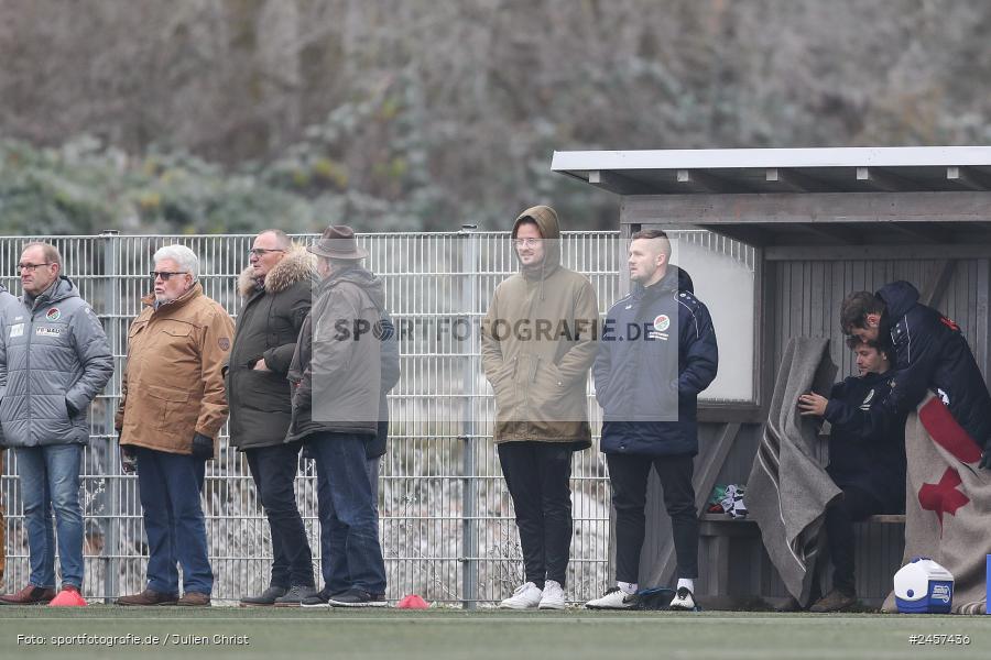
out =
<svg viewBox="0 0 991 660"><path fill-rule="evenodd" d="M314 433L378 432L382 395L382 280L361 266L334 271L314 294L288 370L286 441Z"/></svg>

